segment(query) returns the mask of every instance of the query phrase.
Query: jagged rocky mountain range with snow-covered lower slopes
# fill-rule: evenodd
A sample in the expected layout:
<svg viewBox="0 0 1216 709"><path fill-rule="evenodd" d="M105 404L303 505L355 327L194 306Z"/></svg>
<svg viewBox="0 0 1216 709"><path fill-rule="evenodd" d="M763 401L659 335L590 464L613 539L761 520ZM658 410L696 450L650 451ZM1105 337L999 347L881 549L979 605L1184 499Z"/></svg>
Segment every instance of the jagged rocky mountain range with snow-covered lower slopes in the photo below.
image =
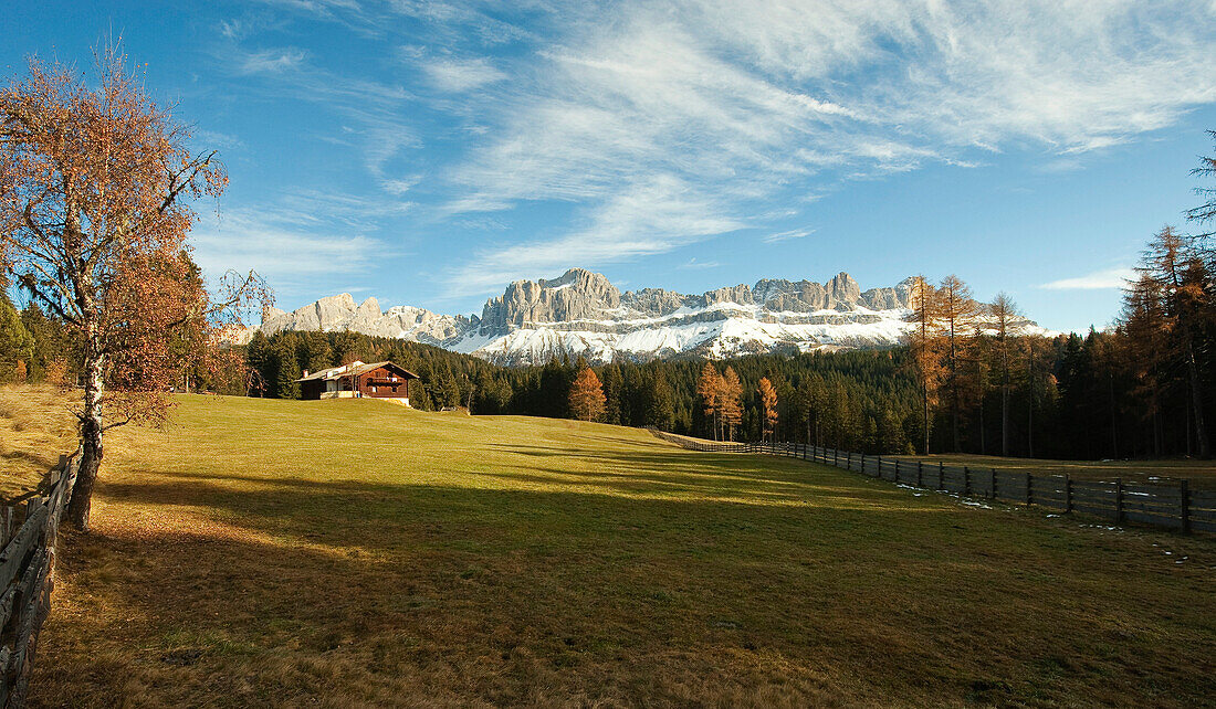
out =
<svg viewBox="0 0 1216 709"><path fill-rule="evenodd" d="M621 293L572 268L552 280L517 280L482 316L445 316L375 297L323 297L294 312L268 308L261 330L354 330L465 352L499 364L539 364L554 354L593 363L676 356L883 347L907 331L912 279L862 291L848 273L827 283L764 279L702 295L644 288Z"/></svg>

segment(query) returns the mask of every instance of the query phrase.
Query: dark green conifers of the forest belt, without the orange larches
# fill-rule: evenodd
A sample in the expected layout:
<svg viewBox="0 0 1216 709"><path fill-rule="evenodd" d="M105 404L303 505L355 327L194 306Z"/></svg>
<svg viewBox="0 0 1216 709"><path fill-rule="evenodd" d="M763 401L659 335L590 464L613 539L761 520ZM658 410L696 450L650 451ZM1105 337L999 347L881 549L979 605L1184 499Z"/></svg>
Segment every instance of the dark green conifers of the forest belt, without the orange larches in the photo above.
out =
<svg viewBox="0 0 1216 709"><path fill-rule="evenodd" d="M1010 455L1198 455L1189 369L1178 358L1184 345L1162 346L1162 340L1177 340L1182 331L1164 322L1154 324L1153 318L1169 311L1144 302L1148 288L1144 283L1128 291L1139 310L1125 312L1110 331L1058 338L1010 334L1003 345L992 330L972 329L958 338L957 371L951 376L950 363L939 361L934 373L930 450L1000 454L1007 438ZM1192 350L1201 353L1195 362L1200 386L1216 365L1210 357L1212 348L1206 346L1212 336L1216 328L1211 324L1197 327L1192 334ZM934 346L939 353L948 352L948 341ZM418 374L422 380L411 385L411 404L424 410L468 407L473 414L552 418L579 413L572 408L570 392L584 365L580 361L505 368L429 345L349 331L258 333L244 347L244 371L225 376L186 370L179 388L297 398L295 380L305 369L315 371L354 359L392 359ZM706 407L704 361L597 365L590 369L603 404L590 410L595 412L591 418L610 424L655 426L706 438L769 437L866 453L921 452L924 398L917 363L916 344L708 363L719 374L730 369L737 379L737 407L731 410L726 402L717 402L726 405L721 415ZM34 305L17 311L7 299L0 299L2 379L71 384L78 369L71 341L54 318ZM771 412L765 407L761 380L771 390L767 396L776 398L767 407ZM585 384L584 395L587 386L593 385ZM1200 393L1204 420L1216 420L1207 391ZM1006 426L1003 419L1008 420ZM771 429L767 435L766 427Z"/></svg>

